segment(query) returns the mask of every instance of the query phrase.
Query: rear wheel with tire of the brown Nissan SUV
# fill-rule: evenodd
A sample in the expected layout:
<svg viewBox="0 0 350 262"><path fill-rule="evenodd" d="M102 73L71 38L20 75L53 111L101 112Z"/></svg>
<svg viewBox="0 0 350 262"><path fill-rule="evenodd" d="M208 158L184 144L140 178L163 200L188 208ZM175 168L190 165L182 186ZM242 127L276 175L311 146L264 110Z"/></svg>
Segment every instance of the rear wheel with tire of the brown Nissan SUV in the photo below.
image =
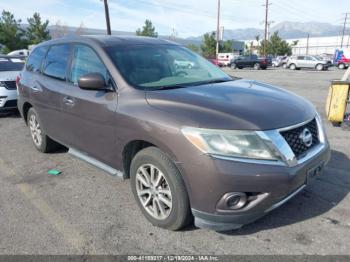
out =
<svg viewBox="0 0 350 262"><path fill-rule="evenodd" d="M38 113L32 107L27 114L27 123L35 148L42 153L49 153L56 150L59 144L53 141L42 129Z"/></svg>

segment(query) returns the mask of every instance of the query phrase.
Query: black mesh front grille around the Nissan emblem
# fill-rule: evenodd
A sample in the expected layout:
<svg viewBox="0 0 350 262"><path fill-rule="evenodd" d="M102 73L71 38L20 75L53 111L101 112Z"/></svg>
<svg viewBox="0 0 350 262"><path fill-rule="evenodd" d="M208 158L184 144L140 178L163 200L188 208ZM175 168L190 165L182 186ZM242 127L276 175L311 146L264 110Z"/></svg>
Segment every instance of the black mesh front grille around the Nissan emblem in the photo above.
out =
<svg viewBox="0 0 350 262"><path fill-rule="evenodd" d="M307 128L312 134L312 144L310 146L307 146L300 138L300 135L305 128ZM281 135L287 141L293 153L298 159L302 158L308 150L320 143L316 119L313 119L309 123L297 128L282 131Z"/></svg>

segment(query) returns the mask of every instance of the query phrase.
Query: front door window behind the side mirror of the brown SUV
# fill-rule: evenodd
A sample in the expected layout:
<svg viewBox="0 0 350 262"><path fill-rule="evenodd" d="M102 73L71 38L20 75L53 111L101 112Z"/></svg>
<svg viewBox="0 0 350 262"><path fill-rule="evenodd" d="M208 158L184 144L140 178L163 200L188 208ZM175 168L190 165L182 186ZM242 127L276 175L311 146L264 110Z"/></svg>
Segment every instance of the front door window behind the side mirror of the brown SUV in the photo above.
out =
<svg viewBox="0 0 350 262"><path fill-rule="evenodd" d="M108 80L107 68L97 54L88 46L77 45L74 51L70 80L77 84L78 79L87 73L100 73L105 80Z"/></svg>

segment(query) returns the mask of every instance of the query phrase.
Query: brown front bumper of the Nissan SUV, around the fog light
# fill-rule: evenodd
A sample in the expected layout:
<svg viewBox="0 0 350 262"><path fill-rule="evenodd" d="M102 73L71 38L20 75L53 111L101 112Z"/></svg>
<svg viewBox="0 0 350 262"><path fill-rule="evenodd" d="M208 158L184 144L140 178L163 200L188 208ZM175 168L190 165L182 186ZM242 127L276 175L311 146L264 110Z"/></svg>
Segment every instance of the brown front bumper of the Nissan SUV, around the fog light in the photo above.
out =
<svg viewBox="0 0 350 262"><path fill-rule="evenodd" d="M214 160L217 170L220 170L217 179L221 185L217 187L214 183L212 189L205 194L206 196L203 194L200 196L205 199L201 199L200 202L195 200L194 205L192 203L195 225L200 228L226 231L249 224L302 191L306 186L308 170L320 163L326 164L329 158L330 148L327 143L316 156L294 167ZM267 196L253 207L242 210L218 210L213 206L210 210L208 206L196 205L205 201L213 203L227 192L264 192Z"/></svg>

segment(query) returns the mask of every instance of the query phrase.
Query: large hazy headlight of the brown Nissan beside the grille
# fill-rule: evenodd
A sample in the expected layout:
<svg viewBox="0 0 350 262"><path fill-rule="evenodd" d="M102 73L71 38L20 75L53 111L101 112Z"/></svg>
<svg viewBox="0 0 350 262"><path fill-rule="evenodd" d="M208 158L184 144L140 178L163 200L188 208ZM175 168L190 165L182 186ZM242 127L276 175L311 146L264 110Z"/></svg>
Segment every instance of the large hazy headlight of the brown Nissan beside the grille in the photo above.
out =
<svg viewBox="0 0 350 262"><path fill-rule="evenodd" d="M185 127L185 137L203 153L228 157L280 160L280 154L255 131Z"/></svg>

